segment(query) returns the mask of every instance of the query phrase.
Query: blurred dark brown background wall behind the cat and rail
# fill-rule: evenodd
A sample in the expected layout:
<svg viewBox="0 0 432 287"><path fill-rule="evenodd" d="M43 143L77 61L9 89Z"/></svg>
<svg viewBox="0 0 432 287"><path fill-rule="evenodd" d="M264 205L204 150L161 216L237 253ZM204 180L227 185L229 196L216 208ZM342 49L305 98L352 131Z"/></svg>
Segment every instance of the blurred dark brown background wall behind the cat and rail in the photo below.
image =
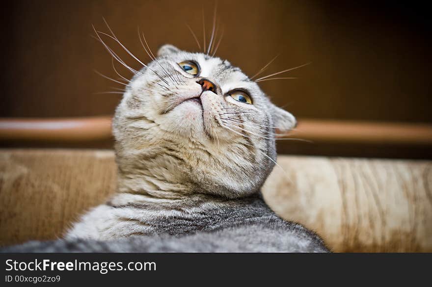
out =
<svg viewBox="0 0 432 287"><path fill-rule="evenodd" d="M188 23L207 37L215 1L91 0L9 1L2 11L1 117L65 117L112 114L120 87L93 72L115 77L92 24L149 61L137 36L153 51L165 43L196 51ZM425 4L426 5L426 4ZM431 123L431 25L426 6L391 1L219 0L225 28L217 55L252 76L272 57L263 75L306 62L290 80L261 83L273 102L299 118ZM139 64L109 42L126 62ZM126 71L119 69L127 77ZM403 136L403 134L401 134ZM20 146L23 143L1 143ZM111 142L93 143L109 147ZM90 146L84 144L84 146ZM367 145L279 144L279 152L320 155L432 158L431 149Z"/></svg>

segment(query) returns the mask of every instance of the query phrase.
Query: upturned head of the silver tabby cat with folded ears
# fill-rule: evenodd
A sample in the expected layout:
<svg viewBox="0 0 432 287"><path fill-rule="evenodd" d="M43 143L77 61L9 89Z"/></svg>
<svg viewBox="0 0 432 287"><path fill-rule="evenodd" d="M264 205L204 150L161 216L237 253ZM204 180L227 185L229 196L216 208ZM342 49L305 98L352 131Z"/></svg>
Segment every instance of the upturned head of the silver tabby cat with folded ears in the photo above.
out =
<svg viewBox="0 0 432 287"><path fill-rule="evenodd" d="M141 166L169 186L233 198L261 187L276 157L274 127L294 125L228 61L165 45L131 80L113 127L120 172Z"/></svg>

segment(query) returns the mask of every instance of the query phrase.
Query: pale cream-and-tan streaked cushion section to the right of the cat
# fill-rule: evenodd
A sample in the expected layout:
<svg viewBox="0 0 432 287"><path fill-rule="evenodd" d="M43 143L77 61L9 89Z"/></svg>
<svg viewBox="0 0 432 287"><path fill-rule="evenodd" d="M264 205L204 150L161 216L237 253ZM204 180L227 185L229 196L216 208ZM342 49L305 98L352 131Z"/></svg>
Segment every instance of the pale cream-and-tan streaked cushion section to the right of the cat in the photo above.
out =
<svg viewBox="0 0 432 287"><path fill-rule="evenodd" d="M432 161L279 157L270 207L334 251L431 252Z"/></svg>

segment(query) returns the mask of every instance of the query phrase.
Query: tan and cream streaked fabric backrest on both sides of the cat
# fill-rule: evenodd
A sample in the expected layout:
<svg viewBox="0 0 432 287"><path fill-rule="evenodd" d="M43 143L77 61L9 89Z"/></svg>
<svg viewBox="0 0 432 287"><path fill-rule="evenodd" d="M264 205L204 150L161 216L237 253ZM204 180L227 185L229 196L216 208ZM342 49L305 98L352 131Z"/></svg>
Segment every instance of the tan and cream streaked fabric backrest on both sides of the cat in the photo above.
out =
<svg viewBox="0 0 432 287"><path fill-rule="evenodd" d="M432 161L280 156L263 193L334 251L432 251ZM0 150L0 244L51 239L115 190L114 153Z"/></svg>

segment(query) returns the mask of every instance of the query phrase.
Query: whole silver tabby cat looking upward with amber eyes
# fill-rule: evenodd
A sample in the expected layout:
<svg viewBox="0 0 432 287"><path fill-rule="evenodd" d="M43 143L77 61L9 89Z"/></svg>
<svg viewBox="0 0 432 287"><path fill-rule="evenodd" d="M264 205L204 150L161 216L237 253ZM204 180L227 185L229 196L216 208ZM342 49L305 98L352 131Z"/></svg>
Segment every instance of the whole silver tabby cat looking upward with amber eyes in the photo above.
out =
<svg viewBox="0 0 432 287"><path fill-rule="evenodd" d="M276 164L275 127L288 131L296 119L257 82L209 52L164 45L136 71L106 48L135 73L112 124L117 193L64 239L6 252L329 251L262 198Z"/></svg>

